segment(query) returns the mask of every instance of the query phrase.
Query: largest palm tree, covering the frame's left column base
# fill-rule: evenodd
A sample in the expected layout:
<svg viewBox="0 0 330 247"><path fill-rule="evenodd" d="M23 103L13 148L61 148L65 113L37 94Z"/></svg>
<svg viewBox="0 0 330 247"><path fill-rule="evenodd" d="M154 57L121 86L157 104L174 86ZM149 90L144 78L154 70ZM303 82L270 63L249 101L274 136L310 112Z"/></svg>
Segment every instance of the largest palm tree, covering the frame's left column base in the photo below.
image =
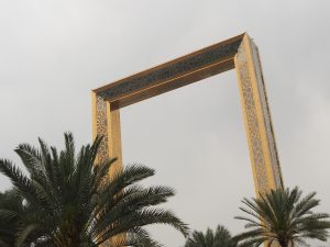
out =
<svg viewBox="0 0 330 247"><path fill-rule="evenodd" d="M9 160L0 160L0 172L10 178L23 205L33 209L20 221L18 246L29 242L47 247L92 247L108 239L113 247L157 246L144 228L151 224L167 224L187 235L185 223L157 207L174 195L174 190L138 184L153 176L153 169L131 165L109 178L116 159L95 164L100 137L77 155L70 133L65 134L62 151L41 139L38 143L40 149L29 144L15 149L29 176ZM11 213L20 215L14 209ZM0 218L4 216L0 211Z"/></svg>

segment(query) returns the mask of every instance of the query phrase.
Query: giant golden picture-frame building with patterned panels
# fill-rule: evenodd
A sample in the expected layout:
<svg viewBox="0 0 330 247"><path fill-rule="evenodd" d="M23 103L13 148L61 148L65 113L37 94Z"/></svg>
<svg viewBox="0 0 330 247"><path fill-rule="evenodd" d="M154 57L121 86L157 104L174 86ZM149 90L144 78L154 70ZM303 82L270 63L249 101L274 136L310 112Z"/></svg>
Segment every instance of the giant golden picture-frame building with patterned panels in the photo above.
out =
<svg viewBox="0 0 330 247"><path fill-rule="evenodd" d="M246 33L92 90L94 137L99 161L117 157L122 169L120 109L235 69L256 194L283 188L258 50ZM111 176L111 175L110 175Z"/></svg>

